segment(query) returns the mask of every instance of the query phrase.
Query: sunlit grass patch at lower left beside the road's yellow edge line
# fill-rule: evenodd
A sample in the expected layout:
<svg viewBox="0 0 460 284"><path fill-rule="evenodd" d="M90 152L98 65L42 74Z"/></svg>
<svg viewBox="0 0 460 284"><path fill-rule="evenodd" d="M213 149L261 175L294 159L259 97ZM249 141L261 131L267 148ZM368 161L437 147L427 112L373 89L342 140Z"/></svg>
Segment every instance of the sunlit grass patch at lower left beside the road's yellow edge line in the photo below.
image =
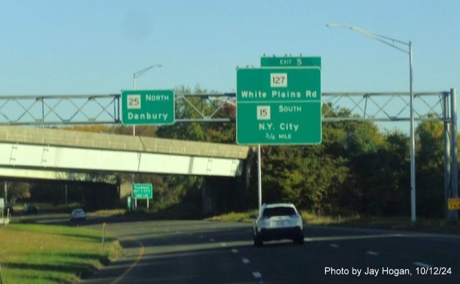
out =
<svg viewBox="0 0 460 284"><path fill-rule="evenodd" d="M114 237L84 228L12 223L0 228L3 283L76 283L121 253Z"/></svg>

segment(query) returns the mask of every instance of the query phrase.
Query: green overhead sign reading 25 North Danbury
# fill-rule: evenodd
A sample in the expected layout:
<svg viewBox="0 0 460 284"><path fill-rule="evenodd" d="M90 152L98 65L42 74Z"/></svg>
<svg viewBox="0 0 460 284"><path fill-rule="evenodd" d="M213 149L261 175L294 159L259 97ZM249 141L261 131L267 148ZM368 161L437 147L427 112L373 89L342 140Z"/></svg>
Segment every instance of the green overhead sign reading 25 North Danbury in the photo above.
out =
<svg viewBox="0 0 460 284"><path fill-rule="evenodd" d="M173 90L121 91L123 124L174 124L175 108Z"/></svg>

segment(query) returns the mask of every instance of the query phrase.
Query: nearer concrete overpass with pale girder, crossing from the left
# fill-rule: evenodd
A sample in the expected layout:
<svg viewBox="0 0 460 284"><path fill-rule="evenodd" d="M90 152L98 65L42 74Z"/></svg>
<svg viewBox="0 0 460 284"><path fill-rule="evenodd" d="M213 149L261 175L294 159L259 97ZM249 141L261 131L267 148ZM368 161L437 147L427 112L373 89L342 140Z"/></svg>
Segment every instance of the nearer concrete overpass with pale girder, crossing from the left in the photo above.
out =
<svg viewBox="0 0 460 284"><path fill-rule="evenodd" d="M0 126L3 177L72 180L81 171L236 177L248 153L229 144Z"/></svg>

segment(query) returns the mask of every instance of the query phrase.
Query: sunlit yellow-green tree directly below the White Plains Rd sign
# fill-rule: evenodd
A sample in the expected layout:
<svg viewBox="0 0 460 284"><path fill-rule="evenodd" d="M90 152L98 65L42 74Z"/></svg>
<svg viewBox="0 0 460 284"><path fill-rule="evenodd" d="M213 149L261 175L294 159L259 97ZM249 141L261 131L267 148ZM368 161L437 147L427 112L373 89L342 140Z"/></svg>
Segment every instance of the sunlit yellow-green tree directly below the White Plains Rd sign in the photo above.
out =
<svg viewBox="0 0 460 284"><path fill-rule="evenodd" d="M289 201L316 212L336 210L331 189L340 188L346 180L344 160L327 155L321 145L263 149L264 201Z"/></svg>

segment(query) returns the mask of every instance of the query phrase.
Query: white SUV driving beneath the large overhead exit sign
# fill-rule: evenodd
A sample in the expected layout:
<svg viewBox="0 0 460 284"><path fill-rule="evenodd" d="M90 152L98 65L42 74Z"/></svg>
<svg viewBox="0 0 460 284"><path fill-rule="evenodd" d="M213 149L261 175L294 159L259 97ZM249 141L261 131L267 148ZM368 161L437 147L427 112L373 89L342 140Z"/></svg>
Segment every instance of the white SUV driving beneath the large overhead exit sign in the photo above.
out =
<svg viewBox="0 0 460 284"><path fill-rule="evenodd" d="M261 246L264 241L292 239L304 243L302 217L293 204L264 204L253 223L254 245Z"/></svg>

